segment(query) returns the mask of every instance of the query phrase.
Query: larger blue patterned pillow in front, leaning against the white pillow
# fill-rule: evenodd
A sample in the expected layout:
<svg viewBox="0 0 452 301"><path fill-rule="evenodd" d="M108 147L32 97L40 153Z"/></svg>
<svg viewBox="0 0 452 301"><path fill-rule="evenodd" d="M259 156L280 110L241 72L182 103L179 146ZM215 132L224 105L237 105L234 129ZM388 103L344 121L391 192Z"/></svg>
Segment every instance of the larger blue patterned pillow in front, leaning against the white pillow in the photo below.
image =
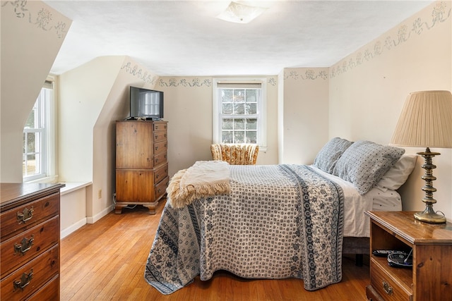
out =
<svg viewBox="0 0 452 301"><path fill-rule="evenodd" d="M340 156L333 175L353 183L359 195L365 195L404 153L399 147L359 140Z"/></svg>

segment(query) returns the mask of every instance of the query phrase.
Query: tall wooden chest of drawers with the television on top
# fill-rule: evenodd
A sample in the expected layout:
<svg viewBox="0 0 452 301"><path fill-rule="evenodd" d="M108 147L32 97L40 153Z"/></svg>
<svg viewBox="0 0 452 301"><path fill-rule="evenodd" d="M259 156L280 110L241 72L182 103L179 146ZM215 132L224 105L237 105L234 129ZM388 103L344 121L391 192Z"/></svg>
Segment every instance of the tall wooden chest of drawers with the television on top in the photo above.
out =
<svg viewBox="0 0 452 301"><path fill-rule="evenodd" d="M166 121L117 121L115 213L140 204L155 214L168 186Z"/></svg>

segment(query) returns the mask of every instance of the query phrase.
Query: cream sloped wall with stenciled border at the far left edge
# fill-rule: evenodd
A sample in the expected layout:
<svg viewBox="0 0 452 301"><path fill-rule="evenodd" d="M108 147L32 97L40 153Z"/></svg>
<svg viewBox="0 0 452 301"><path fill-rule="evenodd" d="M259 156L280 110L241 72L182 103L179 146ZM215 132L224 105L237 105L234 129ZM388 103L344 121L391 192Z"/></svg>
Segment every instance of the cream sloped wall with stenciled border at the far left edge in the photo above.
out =
<svg viewBox="0 0 452 301"><path fill-rule="evenodd" d="M72 21L41 1L0 9L0 181L21 183L23 126Z"/></svg>

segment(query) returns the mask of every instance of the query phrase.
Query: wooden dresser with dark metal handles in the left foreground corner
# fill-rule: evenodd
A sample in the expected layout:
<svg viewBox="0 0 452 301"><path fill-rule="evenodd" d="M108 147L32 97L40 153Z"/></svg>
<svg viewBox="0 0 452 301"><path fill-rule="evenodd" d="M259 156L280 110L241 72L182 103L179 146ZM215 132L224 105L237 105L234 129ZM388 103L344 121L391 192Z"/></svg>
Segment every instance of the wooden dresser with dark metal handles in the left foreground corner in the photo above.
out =
<svg viewBox="0 0 452 301"><path fill-rule="evenodd" d="M59 300L61 184L0 184L1 300Z"/></svg>

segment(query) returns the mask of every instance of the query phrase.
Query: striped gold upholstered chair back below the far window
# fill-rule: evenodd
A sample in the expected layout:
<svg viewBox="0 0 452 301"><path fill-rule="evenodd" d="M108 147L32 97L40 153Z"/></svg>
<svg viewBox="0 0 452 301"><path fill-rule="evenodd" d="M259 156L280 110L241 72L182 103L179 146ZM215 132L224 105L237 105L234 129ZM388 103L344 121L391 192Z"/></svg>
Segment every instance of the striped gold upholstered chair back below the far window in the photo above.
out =
<svg viewBox="0 0 452 301"><path fill-rule="evenodd" d="M210 152L214 160L227 161L231 165L255 165L259 146L244 144L215 144L210 145Z"/></svg>

